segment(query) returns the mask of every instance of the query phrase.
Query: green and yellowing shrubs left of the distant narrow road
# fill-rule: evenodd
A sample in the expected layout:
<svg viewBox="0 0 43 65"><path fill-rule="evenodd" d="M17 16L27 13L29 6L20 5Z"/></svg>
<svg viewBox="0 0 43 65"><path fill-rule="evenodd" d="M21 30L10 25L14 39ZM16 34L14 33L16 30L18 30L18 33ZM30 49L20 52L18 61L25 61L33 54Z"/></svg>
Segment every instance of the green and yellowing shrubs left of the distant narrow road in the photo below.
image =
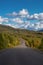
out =
<svg viewBox="0 0 43 65"><path fill-rule="evenodd" d="M19 45L19 39L8 33L0 33L0 49Z"/></svg>

